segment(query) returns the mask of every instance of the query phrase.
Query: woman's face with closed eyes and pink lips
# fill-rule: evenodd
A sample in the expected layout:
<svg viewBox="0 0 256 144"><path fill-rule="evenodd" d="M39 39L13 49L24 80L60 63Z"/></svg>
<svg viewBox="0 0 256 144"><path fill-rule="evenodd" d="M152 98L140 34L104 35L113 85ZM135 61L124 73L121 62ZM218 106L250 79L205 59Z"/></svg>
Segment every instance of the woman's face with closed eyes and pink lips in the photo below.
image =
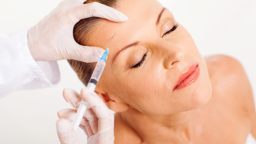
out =
<svg viewBox="0 0 256 144"><path fill-rule="evenodd" d="M91 45L105 49L114 35L96 90L148 115L203 106L211 83L188 31L156 0L119 0L118 5L129 20L103 20L92 34Z"/></svg>

